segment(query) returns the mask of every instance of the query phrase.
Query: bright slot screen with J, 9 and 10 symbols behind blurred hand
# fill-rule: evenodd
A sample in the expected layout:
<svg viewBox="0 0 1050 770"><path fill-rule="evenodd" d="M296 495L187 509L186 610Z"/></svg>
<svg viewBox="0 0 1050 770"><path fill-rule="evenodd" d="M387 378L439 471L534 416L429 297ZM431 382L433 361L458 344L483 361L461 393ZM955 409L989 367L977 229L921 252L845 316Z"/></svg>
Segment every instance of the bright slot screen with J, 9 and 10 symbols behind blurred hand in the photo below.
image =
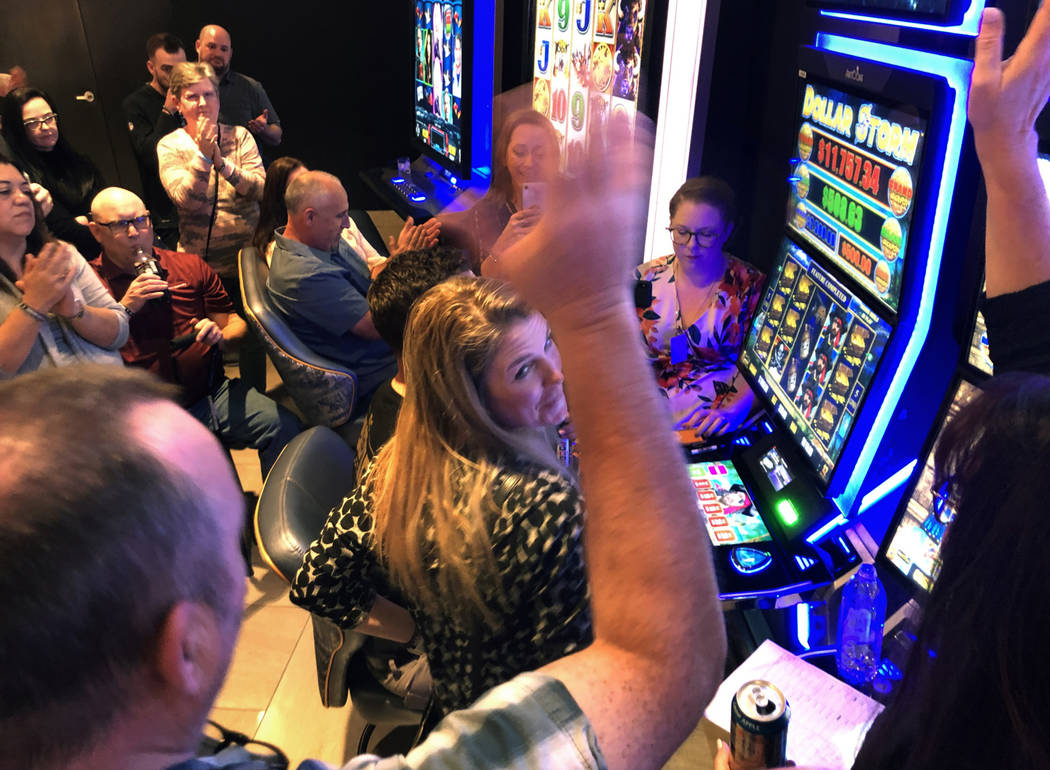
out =
<svg viewBox="0 0 1050 770"><path fill-rule="evenodd" d="M632 130L646 0L538 0L532 107L558 131L574 167L608 126Z"/></svg>

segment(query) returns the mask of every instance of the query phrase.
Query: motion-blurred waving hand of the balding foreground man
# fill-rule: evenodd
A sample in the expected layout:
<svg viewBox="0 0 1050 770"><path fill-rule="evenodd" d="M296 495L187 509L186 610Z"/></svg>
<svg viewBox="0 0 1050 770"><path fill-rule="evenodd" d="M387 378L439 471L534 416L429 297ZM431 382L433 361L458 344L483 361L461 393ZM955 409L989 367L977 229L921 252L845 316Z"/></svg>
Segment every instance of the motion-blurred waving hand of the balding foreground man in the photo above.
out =
<svg viewBox="0 0 1050 770"><path fill-rule="evenodd" d="M638 116L634 137L595 143L575 179L551 183L539 222L500 256L501 273L552 325L633 314L651 176L651 131Z"/></svg>

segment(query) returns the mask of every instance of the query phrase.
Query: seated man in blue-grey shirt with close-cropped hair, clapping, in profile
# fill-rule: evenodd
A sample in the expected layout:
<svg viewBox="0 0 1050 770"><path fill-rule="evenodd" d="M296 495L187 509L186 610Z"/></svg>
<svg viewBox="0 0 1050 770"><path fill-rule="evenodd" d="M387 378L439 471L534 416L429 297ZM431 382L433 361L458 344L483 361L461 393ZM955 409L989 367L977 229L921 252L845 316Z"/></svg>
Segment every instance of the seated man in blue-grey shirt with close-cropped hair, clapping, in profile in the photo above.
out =
<svg viewBox="0 0 1050 770"><path fill-rule="evenodd" d="M394 376L366 295L369 266L339 235L350 224L346 191L323 171L296 176L285 193L288 225L277 228L267 290L278 312L315 353L357 375L357 410Z"/></svg>

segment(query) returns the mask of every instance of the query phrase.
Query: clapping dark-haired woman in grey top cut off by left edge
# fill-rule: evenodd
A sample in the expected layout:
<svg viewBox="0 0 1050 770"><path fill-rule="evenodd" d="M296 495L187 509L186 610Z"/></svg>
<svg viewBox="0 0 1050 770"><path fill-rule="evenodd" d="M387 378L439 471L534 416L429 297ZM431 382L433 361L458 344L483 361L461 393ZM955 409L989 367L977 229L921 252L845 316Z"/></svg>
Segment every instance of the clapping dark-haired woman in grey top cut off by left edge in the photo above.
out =
<svg viewBox="0 0 1050 770"><path fill-rule="evenodd" d="M76 249L50 240L29 183L0 155L0 377L122 365L117 351L127 336L122 307Z"/></svg>

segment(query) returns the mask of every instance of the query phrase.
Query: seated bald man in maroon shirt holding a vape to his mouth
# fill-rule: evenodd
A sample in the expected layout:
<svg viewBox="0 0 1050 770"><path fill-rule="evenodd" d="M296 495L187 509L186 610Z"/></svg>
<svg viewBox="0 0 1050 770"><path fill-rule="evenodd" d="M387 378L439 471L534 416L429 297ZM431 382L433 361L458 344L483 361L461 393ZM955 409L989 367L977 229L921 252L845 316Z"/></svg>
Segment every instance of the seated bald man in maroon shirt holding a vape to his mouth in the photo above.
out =
<svg viewBox="0 0 1050 770"><path fill-rule="evenodd" d="M125 363L183 389L182 403L230 449L258 450L262 478L302 430L291 412L227 378L222 351L248 331L218 276L194 254L153 247L149 212L133 192L109 187L91 203L90 264L129 316Z"/></svg>

